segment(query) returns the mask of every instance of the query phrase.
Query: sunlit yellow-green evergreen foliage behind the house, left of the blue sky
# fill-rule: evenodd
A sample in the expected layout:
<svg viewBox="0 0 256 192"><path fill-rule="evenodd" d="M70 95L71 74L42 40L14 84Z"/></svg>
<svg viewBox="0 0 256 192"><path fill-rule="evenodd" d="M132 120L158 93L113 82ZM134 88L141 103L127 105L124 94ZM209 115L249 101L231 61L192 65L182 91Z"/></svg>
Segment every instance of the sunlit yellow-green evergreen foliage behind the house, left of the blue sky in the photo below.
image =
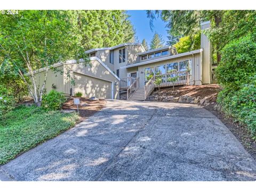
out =
<svg viewBox="0 0 256 192"><path fill-rule="evenodd" d="M85 50L135 41L129 15L121 10L70 11Z"/></svg>

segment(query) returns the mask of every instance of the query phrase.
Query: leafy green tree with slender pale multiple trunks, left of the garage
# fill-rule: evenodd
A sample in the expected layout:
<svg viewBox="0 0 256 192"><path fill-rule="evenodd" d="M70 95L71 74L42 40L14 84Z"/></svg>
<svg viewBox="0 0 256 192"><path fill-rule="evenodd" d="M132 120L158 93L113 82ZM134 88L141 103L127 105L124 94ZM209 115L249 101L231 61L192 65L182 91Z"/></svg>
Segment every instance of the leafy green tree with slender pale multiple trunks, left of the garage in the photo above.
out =
<svg viewBox="0 0 256 192"><path fill-rule="evenodd" d="M54 63L87 57L67 11L19 11L0 17L1 68L11 67L41 106L47 73ZM41 87L35 73L45 68ZM30 74L31 84L26 78Z"/></svg>

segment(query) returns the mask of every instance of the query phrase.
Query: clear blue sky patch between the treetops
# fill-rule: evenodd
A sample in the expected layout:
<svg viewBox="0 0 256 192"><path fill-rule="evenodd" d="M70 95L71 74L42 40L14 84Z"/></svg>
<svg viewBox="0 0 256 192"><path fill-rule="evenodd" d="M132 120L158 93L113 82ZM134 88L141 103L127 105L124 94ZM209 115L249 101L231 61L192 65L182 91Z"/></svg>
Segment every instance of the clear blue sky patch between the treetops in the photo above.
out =
<svg viewBox="0 0 256 192"><path fill-rule="evenodd" d="M140 42L142 41L143 38L145 38L147 43L149 44L153 35L155 34L155 31L156 33L162 35L165 42L168 40L168 34L166 31L167 28L165 27L167 24L166 22L157 18L156 20L154 20L154 29L153 31L151 31L146 11L129 10L127 11L127 14L131 15L129 19L136 30L136 35L138 36Z"/></svg>

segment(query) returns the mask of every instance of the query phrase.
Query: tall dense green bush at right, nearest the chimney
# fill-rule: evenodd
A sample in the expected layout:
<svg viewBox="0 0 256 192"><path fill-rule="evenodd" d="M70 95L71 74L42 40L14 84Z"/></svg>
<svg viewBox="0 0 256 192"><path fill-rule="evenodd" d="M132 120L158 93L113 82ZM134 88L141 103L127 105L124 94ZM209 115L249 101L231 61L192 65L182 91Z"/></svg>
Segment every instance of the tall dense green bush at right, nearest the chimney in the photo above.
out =
<svg viewBox="0 0 256 192"><path fill-rule="evenodd" d="M256 42L252 35L228 43L221 51L221 62L216 73L220 84L233 90L240 89L256 74Z"/></svg>

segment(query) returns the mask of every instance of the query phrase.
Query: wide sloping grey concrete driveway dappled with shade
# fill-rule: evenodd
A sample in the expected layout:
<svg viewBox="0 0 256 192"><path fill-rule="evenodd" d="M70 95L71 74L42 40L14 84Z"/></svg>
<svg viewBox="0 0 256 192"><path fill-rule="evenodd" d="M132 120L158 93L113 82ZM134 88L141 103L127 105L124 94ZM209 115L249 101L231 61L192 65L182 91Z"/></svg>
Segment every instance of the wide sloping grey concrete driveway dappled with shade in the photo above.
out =
<svg viewBox="0 0 256 192"><path fill-rule="evenodd" d="M256 180L256 162L209 111L108 101L106 108L0 167L15 180Z"/></svg>

